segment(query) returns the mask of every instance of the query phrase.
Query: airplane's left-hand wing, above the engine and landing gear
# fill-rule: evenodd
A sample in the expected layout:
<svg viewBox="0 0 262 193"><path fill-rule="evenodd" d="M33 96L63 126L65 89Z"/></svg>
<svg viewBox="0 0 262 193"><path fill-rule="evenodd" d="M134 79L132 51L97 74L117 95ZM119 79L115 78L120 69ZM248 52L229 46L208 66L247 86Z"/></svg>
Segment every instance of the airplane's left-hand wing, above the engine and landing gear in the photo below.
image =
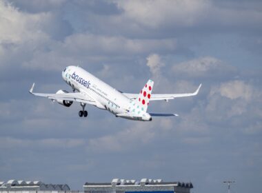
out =
<svg viewBox="0 0 262 193"><path fill-rule="evenodd" d="M92 99L90 96L88 96L87 94L83 92L46 94L46 93L33 92L33 89L34 89L34 83L32 85L32 88L29 90L29 92L31 94L34 94L35 96L43 96L43 97L47 97L48 99L52 99L52 100L76 101L79 103L88 103L90 105L96 104L94 99Z"/></svg>

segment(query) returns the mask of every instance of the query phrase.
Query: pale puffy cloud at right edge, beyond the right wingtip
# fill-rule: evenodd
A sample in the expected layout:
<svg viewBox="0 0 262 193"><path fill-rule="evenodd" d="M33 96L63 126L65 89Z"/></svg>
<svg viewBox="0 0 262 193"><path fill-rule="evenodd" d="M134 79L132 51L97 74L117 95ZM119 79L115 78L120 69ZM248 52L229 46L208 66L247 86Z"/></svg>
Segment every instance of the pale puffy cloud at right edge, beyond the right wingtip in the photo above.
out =
<svg viewBox="0 0 262 193"><path fill-rule="evenodd" d="M260 132L256 128L261 124L261 94L252 83L244 81L213 85L204 108L205 116L223 128L237 128L243 133L248 130Z"/></svg>

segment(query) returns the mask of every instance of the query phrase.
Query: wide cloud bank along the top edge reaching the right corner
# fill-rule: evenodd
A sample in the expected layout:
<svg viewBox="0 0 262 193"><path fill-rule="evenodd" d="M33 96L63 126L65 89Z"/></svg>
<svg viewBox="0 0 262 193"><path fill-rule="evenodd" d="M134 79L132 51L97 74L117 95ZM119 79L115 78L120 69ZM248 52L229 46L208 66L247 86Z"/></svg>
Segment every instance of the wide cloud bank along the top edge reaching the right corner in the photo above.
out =
<svg viewBox="0 0 262 193"><path fill-rule="evenodd" d="M239 3L234 1L226 1L227 6L224 6L226 3L210 0L114 2L123 10L123 18L129 23L135 23L132 26L154 30L154 35L161 32L174 37L193 31L203 34L228 31L240 33L239 29L242 30L242 35L243 32L258 35L261 30L261 12L252 1L245 2L241 12L238 9L241 6L237 6Z"/></svg>

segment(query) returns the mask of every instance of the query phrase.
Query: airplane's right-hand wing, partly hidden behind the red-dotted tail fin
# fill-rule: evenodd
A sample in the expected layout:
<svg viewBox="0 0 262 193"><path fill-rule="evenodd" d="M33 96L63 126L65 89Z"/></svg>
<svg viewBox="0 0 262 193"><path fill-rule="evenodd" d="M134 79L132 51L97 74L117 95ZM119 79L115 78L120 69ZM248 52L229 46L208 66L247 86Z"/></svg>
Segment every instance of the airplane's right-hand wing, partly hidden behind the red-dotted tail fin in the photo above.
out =
<svg viewBox="0 0 262 193"><path fill-rule="evenodd" d="M195 92L192 93L183 93L183 94L151 94L150 101L161 101L161 100L171 100L174 98L179 98L179 97L186 97L186 96L195 96L196 94L199 93L199 89L201 88L201 85L199 85L199 88ZM137 96L139 94L131 94L131 93L122 93L125 96L127 96L129 99L137 99Z"/></svg>

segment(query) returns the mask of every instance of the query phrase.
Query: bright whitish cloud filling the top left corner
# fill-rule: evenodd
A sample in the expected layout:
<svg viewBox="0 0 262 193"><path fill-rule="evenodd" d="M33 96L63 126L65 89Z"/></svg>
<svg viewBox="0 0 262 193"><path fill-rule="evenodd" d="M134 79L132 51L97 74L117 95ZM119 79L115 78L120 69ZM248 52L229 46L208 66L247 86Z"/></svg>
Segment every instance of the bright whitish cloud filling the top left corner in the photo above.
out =
<svg viewBox="0 0 262 193"><path fill-rule="evenodd" d="M3 76L14 66L22 72L23 67L36 68L39 65L40 69L56 68L55 63L61 59L56 57L57 61L50 61L54 59L52 50L57 39L70 34L70 26L55 13L21 12L6 1L0 1L0 12L3 16L0 17L0 68ZM50 54L47 56L47 53ZM39 64L39 61L42 62Z"/></svg>

